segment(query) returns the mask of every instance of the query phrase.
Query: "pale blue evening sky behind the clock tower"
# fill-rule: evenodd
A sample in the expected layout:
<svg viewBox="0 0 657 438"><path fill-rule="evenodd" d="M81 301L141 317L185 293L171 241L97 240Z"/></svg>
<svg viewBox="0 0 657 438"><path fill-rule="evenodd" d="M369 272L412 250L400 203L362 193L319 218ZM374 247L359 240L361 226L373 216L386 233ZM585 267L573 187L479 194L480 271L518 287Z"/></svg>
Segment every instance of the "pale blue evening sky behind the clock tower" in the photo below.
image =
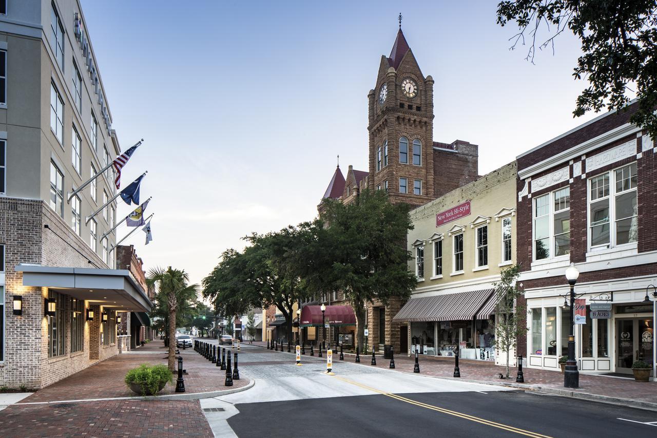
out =
<svg viewBox="0 0 657 438"><path fill-rule="evenodd" d="M154 240L125 243L196 282L240 237L311 220L336 155L367 170L367 93L399 12L436 82L434 140L478 144L480 174L594 116L572 117L578 41L532 65L496 1L81 3L122 149L145 139L122 181L148 170Z"/></svg>

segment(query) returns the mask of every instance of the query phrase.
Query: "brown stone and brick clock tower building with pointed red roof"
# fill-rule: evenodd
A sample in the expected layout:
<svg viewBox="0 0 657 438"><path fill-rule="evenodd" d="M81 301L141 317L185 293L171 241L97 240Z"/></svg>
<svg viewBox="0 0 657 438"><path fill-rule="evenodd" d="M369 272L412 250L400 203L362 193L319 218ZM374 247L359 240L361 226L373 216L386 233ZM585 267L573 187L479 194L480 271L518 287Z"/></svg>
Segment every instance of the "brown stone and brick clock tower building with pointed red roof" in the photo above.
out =
<svg viewBox="0 0 657 438"><path fill-rule="evenodd" d="M342 172L336 169L324 197L350 203L362 189L380 189L394 203L418 207L478 178L477 145L434 141L434 79L422 74L401 28L390 56L380 59L367 99L369 170L350 166L342 187ZM340 293L335 298L336 305L348 304ZM376 330L377 335L369 337L370 346L391 344L400 351L399 323L392 318L402 304L368 304L367 327L385 327L385 333Z"/></svg>

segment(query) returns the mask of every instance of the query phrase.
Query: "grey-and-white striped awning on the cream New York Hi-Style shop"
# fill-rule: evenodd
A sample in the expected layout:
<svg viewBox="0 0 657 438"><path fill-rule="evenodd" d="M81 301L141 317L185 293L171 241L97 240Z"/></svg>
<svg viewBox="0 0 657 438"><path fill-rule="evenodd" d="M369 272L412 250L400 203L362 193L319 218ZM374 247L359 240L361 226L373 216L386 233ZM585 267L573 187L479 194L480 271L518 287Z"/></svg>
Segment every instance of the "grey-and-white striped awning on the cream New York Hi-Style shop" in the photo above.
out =
<svg viewBox="0 0 657 438"><path fill-rule="evenodd" d="M493 289L411 298L392 318L397 322L472 320ZM486 316L487 318L487 316Z"/></svg>

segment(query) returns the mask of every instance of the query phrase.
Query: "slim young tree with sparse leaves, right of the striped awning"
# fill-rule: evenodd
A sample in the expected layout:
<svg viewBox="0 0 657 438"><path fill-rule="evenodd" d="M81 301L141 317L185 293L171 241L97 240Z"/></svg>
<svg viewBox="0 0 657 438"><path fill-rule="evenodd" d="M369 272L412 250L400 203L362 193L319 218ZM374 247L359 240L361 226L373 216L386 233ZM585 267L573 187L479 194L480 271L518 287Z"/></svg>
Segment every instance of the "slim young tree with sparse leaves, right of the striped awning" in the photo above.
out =
<svg viewBox="0 0 657 438"><path fill-rule="evenodd" d="M493 283L495 287L495 347L507 356L507 378L509 377L510 352L516 349L518 338L526 335L527 327L522 326L521 315L525 308L518 304L522 291L518 288L520 265L502 268L501 278Z"/></svg>

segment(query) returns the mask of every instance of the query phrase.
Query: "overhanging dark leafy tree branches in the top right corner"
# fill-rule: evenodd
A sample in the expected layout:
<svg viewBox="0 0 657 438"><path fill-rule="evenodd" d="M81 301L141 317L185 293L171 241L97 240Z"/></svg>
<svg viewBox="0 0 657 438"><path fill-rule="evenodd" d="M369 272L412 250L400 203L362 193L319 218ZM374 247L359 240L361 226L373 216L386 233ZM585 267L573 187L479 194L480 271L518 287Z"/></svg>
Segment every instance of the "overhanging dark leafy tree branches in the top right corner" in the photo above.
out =
<svg viewBox="0 0 657 438"><path fill-rule="evenodd" d="M551 47L556 36L572 32L581 41L573 76L589 87L579 95L573 114L623 109L635 89L639 108L630 121L657 136L657 1L655 0L514 0L497 5L497 23L518 24L511 49L529 42L527 58ZM539 37L541 28L548 34ZM526 41L528 39L529 41Z"/></svg>

